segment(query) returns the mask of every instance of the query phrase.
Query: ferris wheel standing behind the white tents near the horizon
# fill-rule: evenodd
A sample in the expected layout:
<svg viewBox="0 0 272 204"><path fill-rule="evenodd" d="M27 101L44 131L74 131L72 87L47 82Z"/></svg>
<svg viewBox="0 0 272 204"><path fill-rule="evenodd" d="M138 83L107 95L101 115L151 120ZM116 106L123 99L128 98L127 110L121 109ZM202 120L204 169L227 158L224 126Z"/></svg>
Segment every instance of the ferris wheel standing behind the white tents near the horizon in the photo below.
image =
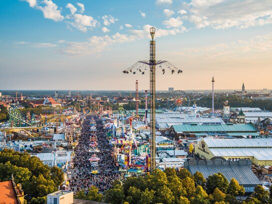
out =
<svg viewBox="0 0 272 204"><path fill-rule="evenodd" d="M176 90L172 92L169 98L169 109L173 111L185 111L190 105L189 96L186 92L181 90Z"/></svg>

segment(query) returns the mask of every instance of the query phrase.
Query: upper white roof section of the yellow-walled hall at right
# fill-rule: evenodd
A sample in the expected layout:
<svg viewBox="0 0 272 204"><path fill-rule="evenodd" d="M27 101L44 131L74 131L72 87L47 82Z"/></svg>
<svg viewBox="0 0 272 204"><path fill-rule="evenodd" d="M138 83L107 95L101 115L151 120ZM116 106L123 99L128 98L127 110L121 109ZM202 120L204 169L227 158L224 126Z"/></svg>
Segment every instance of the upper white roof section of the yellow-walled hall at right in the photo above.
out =
<svg viewBox="0 0 272 204"><path fill-rule="evenodd" d="M203 138L208 147L211 148L272 148L272 139L213 139ZM236 149L237 150L237 149Z"/></svg>

